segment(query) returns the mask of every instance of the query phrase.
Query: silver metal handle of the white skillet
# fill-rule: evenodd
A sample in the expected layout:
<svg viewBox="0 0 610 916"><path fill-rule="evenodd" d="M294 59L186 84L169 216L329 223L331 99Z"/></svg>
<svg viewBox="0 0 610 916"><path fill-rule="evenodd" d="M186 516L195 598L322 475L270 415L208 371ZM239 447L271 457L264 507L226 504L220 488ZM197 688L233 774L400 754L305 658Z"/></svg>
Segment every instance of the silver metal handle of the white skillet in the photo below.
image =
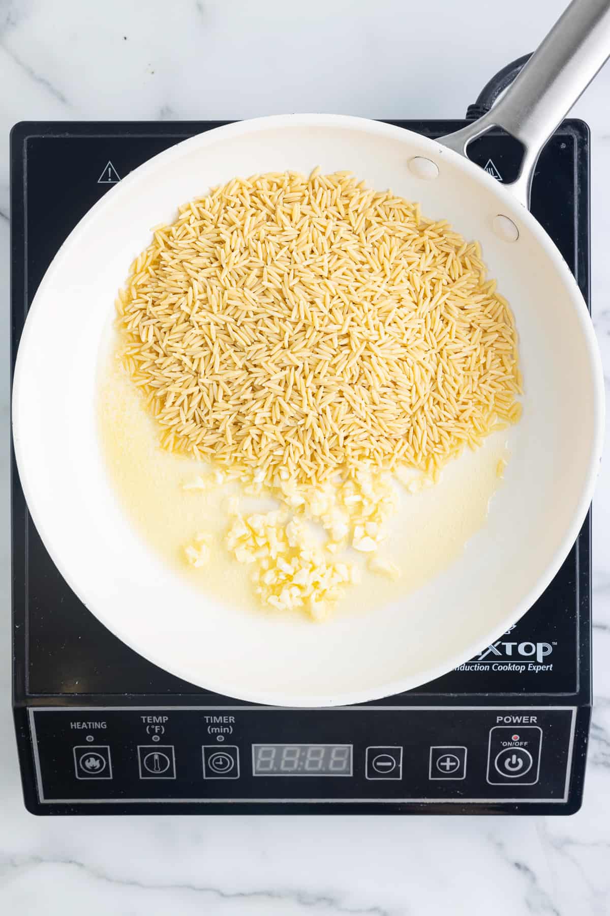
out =
<svg viewBox="0 0 610 916"><path fill-rule="evenodd" d="M540 150L610 57L610 0L573 0L493 108L438 142L466 156L471 140L504 128L525 147L519 175L505 187L525 207Z"/></svg>

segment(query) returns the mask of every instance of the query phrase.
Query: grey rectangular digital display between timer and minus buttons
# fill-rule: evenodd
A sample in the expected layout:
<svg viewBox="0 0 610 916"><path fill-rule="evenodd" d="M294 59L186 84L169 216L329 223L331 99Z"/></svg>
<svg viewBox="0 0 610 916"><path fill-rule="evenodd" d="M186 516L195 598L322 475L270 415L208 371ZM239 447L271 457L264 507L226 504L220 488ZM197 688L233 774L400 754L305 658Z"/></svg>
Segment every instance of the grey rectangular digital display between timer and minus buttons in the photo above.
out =
<svg viewBox="0 0 610 916"><path fill-rule="evenodd" d="M254 776L351 776L351 745L252 745Z"/></svg>

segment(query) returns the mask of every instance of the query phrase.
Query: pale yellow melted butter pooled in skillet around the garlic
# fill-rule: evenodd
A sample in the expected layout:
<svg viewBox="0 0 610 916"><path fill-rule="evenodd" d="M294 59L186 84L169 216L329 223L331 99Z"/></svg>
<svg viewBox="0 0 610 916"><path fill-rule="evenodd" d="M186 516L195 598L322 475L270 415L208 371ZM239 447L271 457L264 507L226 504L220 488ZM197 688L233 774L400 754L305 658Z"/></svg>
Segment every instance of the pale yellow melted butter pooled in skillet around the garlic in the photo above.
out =
<svg viewBox="0 0 610 916"><path fill-rule="evenodd" d="M168 453L158 444L155 421L114 354L102 361L98 420L102 452L123 509L144 540L180 575L214 595L221 604L259 610L251 569L230 557L224 546L229 526L227 504L238 485L208 491L184 490L194 477L209 474L209 464ZM419 493L402 492L388 525L380 559L394 562L401 578L369 573L366 557L346 551L362 567L362 582L348 588L338 613L368 612L419 588L443 572L465 550L486 521L489 500L500 485L498 469L508 458L506 433L489 436L476 452L466 451L448 464L438 484ZM250 510L251 500L244 500ZM257 510L274 507L257 500ZM198 532L211 537L209 563L187 564L184 547Z"/></svg>

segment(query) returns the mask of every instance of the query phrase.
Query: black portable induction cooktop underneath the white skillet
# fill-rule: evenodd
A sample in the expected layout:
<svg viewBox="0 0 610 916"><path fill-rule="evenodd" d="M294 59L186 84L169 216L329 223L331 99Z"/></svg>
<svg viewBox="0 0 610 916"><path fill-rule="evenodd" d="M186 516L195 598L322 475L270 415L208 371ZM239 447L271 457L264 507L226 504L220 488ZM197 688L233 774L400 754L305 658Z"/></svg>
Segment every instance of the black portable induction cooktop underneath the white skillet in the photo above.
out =
<svg viewBox="0 0 610 916"><path fill-rule="evenodd" d="M13 365L37 286L80 218L145 160L219 123L16 125ZM427 136L464 124L391 123ZM519 167L519 149L498 131L468 153L498 181ZM583 122L564 122L543 150L531 210L588 302ZM50 560L14 458L12 472L14 707L29 811L530 814L580 807L591 703L590 517L540 600L456 671L363 706L284 710L202 691L113 636Z"/></svg>

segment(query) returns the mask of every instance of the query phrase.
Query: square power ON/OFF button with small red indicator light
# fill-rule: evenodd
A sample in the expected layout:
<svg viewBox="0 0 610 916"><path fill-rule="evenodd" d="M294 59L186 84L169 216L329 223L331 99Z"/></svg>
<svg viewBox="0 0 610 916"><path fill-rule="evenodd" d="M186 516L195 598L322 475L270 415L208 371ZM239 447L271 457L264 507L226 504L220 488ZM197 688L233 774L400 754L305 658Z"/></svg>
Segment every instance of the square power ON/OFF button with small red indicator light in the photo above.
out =
<svg viewBox="0 0 610 916"><path fill-rule="evenodd" d="M541 743L539 725L496 725L489 732L487 782L492 786L535 785Z"/></svg>

